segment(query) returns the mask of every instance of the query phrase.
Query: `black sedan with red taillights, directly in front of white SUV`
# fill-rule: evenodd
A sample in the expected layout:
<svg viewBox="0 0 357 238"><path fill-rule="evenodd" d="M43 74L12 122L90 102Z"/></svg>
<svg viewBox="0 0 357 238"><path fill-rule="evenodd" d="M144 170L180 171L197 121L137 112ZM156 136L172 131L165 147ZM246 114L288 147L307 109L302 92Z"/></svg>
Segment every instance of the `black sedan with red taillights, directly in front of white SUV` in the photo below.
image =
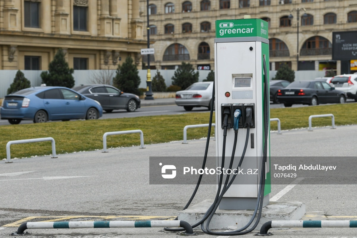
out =
<svg viewBox="0 0 357 238"><path fill-rule="evenodd" d="M320 103L345 103L346 94L325 81L295 81L279 89L277 99L286 107L293 104L315 106Z"/></svg>

